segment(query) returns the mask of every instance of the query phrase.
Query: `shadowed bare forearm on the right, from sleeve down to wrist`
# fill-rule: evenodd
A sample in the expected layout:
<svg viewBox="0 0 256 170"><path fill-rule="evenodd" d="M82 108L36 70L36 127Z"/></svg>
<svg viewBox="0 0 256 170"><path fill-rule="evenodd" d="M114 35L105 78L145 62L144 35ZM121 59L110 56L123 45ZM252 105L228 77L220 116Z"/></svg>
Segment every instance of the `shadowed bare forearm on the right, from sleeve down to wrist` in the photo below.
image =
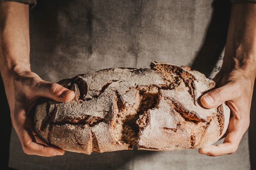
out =
<svg viewBox="0 0 256 170"><path fill-rule="evenodd" d="M256 4L232 4L222 71L240 69L256 76Z"/></svg>

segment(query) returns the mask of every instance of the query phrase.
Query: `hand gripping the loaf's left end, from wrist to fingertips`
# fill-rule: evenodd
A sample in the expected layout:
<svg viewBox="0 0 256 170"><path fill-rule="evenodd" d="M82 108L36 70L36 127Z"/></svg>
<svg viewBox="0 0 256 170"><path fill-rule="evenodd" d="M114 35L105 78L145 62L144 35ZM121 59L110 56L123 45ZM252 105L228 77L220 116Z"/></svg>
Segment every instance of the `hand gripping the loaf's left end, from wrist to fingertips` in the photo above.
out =
<svg viewBox="0 0 256 170"><path fill-rule="evenodd" d="M29 113L39 97L67 102L74 98L74 92L59 84L46 82L31 71L11 74L8 81L5 78L4 86L11 111L11 122L23 151L28 155L45 157L63 155L64 150L47 146L36 136L33 118Z"/></svg>

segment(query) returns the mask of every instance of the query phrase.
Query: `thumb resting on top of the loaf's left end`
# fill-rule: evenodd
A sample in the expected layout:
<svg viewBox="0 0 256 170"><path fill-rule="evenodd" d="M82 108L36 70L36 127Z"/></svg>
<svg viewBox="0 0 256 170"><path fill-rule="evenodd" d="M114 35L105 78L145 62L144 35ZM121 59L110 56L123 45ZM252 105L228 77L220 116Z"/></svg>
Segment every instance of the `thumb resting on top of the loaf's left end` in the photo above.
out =
<svg viewBox="0 0 256 170"><path fill-rule="evenodd" d="M58 102L68 102L75 97L74 91L57 83L42 81L37 86L37 95L54 99Z"/></svg>

